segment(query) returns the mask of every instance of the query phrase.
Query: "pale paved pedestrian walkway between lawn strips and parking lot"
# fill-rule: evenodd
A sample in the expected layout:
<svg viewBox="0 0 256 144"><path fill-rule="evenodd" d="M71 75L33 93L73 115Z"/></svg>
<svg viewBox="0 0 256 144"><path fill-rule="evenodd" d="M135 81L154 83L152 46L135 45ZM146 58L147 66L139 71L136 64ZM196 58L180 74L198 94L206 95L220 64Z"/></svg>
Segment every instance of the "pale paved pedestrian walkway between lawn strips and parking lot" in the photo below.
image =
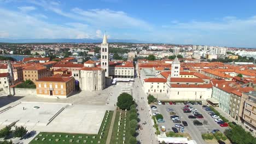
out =
<svg viewBox="0 0 256 144"><path fill-rule="evenodd" d="M147 103L147 95L143 92L141 82L139 81L138 78L136 78L135 82L133 83L132 97L135 99L138 105L138 117L140 119L139 124L142 127L141 130L137 131L137 140L143 144L157 143L155 128L153 127L154 122L150 116L150 107Z"/></svg>

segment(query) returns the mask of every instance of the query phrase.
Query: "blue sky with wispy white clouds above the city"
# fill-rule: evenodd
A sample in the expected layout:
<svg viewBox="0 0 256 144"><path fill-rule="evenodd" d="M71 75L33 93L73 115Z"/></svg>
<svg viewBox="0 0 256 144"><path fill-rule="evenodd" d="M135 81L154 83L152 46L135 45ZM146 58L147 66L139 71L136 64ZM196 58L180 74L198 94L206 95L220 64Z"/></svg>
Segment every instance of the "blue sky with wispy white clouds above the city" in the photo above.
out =
<svg viewBox="0 0 256 144"><path fill-rule="evenodd" d="M0 38L256 47L256 1L0 0Z"/></svg>

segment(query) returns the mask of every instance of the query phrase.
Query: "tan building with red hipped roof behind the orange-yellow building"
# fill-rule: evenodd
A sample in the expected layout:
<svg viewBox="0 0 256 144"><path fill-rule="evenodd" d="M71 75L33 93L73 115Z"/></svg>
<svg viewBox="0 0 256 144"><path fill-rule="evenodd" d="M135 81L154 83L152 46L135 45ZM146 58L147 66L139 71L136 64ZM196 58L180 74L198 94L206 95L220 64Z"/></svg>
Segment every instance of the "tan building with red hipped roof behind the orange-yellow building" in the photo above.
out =
<svg viewBox="0 0 256 144"><path fill-rule="evenodd" d="M46 69L43 66L40 65L31 65L26 67L23 71L23 80L31 80L33 82L36 82L36 80L41 79L43 77L49 77L51 76L51 71Z"/></svg>

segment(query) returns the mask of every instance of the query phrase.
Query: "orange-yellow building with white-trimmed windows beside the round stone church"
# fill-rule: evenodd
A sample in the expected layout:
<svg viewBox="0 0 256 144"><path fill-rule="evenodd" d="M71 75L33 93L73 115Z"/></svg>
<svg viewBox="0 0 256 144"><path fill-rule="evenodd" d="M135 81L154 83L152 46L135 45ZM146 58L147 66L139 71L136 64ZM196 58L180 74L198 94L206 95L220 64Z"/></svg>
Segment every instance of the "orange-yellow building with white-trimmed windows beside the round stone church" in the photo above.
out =
<svg viewBox="0 0 256 144"><path fill-rule="evenodd" d="M74 77L56 74L36 81L37 96L67 98L75 89Z"/></svg>

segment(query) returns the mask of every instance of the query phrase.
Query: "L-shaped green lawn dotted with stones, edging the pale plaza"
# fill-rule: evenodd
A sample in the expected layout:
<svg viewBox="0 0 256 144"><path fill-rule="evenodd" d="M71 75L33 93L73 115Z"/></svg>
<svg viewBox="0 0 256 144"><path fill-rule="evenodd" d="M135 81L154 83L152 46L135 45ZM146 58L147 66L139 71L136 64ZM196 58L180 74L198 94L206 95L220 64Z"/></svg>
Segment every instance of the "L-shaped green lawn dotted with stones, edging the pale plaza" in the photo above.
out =
<svg viewBox="0 0 256 144"><path fill-rule="evenodd" d="M30 144L84 143L84 140L86 140L86 143L91 143L91 144L98 143L98 141L100 141L100 143L106 143L112 116L113 116L113 111L109 111L109 116L108 116L105 128L103 130L104 122L107 117L107 112L105 113L105 116L104 116L102 124L101 124L100 131L98 132L97 135L40 132L30 142ZM102 139L100 139L101 133L103 133ZM55 135L55 137L53 135ZM66 136L68 136L68 137L66 137ZM93 138L94 136L95 136L95 138ZM36 138L38 139L37 141L36 141ZM45 138L45 140L43 140L43 138ZM49 141L49 139L51 139L51 141ZM59 141L56 141L56 139L59 139ZM69 140L73 140L73 141L69 142ZM79 140L79 142L78 142L78 140Z"/></svg>

